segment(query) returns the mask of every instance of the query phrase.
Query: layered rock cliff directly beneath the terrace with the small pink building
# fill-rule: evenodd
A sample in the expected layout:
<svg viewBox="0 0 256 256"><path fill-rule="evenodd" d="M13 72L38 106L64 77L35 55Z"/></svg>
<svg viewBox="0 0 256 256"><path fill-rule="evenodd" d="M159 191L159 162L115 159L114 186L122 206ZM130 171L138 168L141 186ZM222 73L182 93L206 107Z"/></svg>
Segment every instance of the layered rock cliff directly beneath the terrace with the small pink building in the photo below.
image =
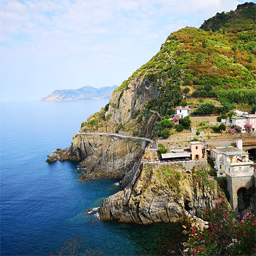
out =
<svg viewBox="0 0 256 256"><path fill-rule="evenodd" d="M200 207L214 206L213 190L185 173L182 164L176 163L174 176L166 178L162 170L141 166L130 186L104 200L99 211L101 220L138 224L181 222L188 214L197 214ZM175 178L179 176L180 179Z"/></svg>

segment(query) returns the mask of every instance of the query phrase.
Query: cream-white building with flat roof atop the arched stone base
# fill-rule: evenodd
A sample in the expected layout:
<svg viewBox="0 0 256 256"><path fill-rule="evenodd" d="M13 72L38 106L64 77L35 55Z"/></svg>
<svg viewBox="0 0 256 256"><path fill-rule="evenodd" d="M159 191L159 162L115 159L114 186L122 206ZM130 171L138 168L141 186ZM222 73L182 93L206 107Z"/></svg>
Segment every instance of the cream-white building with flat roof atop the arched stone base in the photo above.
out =
<svg viewBox="0 0 256 256"><path fill-rule="evenodd" d="M239 142L237 141L237 144ZM253 175L253 162L249 154L233 146L216 147L210 150L209 158L214 161L217 177L244 177Z"/></svg>

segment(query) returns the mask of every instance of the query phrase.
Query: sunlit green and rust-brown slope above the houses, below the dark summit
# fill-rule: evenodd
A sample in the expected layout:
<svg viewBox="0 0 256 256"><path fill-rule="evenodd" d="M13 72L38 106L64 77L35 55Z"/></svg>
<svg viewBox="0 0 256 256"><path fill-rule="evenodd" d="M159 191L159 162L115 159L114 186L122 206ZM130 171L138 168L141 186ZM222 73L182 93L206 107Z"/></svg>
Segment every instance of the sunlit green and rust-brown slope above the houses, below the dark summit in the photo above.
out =
<svg viewBox="0 0 256 256"><path fill-rule="evenodd" d="M256 5L249 6L245 4L245 10L253 9L255 13ZM254 23L253 19L246 20ZM180 103L184 87L196 90L196 97L253 104L255 38L253 26L241 32L232 31L231 25L228 31L217 32L186 27L170 34L161 50L116 90L125 90L135 76L153 81L161 89L156 109L161 106L162 114ZM205 86L212 90L205 90Z"/></svg>

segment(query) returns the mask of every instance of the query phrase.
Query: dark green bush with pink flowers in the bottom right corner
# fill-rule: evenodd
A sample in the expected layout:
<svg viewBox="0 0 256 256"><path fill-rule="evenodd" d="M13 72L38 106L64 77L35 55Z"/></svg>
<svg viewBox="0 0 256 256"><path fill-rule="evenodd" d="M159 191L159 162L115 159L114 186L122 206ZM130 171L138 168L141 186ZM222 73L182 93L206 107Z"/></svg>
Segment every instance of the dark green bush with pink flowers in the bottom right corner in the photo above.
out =
<svg viewBox="0 0 256 256"><path fill-rule="evenodd" d="M225 201L211 209L201 208L199 215L208 222L208 229L200 232L193 228L186 247L188 255L255 255L255 221L247 213L237 223Z"/></svg>

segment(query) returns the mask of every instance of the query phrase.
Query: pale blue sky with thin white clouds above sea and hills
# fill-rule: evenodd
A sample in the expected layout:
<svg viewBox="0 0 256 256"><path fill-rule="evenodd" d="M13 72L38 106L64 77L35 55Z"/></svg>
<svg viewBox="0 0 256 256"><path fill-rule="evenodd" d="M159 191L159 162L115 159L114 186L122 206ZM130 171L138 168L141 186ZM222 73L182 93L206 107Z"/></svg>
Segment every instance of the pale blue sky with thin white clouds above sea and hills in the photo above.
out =
<svg viewBox="0 0 256 256"><path fill-rule="evenodd" d="M119 86L167 36L241 0L0 0L1 101ZM249 2L249 1L248 1Z"/></svg>

